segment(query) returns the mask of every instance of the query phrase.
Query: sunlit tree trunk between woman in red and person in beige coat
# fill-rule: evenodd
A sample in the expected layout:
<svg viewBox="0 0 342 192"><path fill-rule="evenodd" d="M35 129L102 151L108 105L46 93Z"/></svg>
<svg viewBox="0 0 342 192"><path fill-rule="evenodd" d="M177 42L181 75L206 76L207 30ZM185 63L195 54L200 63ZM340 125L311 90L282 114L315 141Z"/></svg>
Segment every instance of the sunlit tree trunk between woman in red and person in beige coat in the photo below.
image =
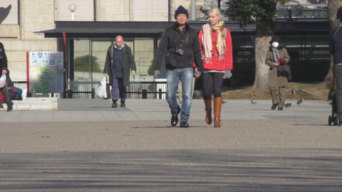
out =
<svg viewBox="0 0 342 192"><path fill-rule="evenodd" d="M252 88L257 89L257 96L262 96L268 91L269 66L265 63L266 53L269 50L269 41L274 34L273 20L262 21L263 25L257 24L255 38L255 80Z"/></svg>

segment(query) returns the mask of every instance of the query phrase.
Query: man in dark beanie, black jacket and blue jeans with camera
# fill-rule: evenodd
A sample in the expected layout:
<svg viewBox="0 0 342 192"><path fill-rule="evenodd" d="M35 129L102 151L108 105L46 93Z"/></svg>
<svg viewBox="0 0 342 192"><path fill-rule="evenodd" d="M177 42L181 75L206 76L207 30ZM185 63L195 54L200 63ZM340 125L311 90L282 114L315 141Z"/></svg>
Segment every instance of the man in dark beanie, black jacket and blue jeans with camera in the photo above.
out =
<svg viewBox="0 0 342 192"><path fill-rule="evenodd" d="M189 127L187 119L190 117L194 61L197 68L196 78L203 72L198 34L187 24L188 18L187 10L179 6L175 11L176 23L162 33L155 58L155 78L158 78L162 59L166 56L167 102L171 109L172 127L176 126L180 112L180 127ZM182 110L176 99L180 81L183 94Z"/></svg>

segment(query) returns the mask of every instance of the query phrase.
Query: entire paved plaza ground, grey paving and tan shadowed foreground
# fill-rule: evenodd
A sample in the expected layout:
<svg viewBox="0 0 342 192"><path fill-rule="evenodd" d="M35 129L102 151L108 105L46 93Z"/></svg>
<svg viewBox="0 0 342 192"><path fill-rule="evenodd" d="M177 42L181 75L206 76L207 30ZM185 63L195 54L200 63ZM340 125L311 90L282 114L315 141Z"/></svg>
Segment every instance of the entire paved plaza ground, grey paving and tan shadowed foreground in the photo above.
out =
<svg viewBox="0 0 342 192"><path fill-rule="evenodd" d="M0 191L342 191L342 128L326 101L225 100L222 127L193 100L190 128L165 100L58 100L0 112Z"/></svg>

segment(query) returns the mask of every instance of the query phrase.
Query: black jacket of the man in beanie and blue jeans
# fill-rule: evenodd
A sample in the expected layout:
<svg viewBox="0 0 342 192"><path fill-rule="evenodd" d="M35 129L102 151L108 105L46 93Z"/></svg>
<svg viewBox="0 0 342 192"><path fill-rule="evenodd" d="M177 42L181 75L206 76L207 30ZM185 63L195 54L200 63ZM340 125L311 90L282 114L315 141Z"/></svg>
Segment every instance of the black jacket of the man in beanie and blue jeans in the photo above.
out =
<svg viewBox="0 0 342 192"><path fill-rule="evenodd" d="M184 31L185 30L185 31ZM165 60L167 69L194 68L194 61L199 72L203 71L203 61L199 48L197 32L186 24L183 33L175 23L174 26L166 28L158 46L157 57L155 58L155 70L160 70L162 59ZM183 44L182 44L183 43ZM175 53L177 48L184 50L183 55ZM169 58L170 57L170 58ZM172 62L172 60L174 62Z"/></svg>

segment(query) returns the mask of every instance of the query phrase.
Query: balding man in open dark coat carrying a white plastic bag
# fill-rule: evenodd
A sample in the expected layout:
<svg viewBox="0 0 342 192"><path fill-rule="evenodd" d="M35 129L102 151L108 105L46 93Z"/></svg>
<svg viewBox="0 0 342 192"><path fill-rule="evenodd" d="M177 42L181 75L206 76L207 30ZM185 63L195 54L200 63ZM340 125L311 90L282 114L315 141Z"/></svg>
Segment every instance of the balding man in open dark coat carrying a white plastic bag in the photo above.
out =
<svg viewBox="0 0 342 192"><path fill-rule="evenodd" d="M110 82L112 82L112 107L118 107L116 102L119 97L121 98L120 107L126 107L126 86L130 84L130 70L132 70L134 76L137 68L135 67L132 50L123 43L122 36L117 36L115 44L108 48L105 69L103 70L105 77L107 78L109 74ZM118 90L120 95L118 95Z"/></svg>

